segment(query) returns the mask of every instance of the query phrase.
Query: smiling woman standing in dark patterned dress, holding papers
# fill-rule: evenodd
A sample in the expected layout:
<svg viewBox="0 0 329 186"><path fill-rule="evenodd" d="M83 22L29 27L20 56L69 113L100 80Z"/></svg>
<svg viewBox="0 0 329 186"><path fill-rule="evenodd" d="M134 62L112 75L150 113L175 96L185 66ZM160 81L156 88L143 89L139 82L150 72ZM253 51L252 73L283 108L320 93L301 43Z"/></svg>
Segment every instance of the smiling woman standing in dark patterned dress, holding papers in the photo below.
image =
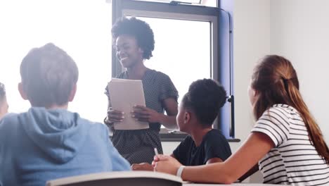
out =
<svg viewBox="0 0 329 186"><path fill-rule="evenodd" d="M144 61L152 57L154 49L153 30L148 23L136 18L121 18L112 27L116 56L126 70L117 78L142 80L146 99L145 106L134 106L132 113L122 113L111 108L108 87L108 116L104 122L112 126L124 117L146 121L150 128L143 130L114 130L112 142L130 163L153 161L154 148L162 154L160 127L176 128L178 92L168 75L146 68ZM129 90L127 90L129 91ZM164 115L166 111L167 115Z"/></svg>

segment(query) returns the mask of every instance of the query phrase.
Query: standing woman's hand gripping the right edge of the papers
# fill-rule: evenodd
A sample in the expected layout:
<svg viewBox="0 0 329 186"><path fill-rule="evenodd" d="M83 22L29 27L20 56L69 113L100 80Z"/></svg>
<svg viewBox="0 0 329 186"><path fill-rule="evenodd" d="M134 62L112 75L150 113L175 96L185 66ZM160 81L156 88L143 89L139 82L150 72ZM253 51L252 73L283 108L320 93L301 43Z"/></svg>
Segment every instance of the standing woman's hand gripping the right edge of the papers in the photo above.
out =
<svg viewBox="0 0 329 186"><path fill-rule="evenodd" d="M136 118L136 120L146 121L148 123L158 123L160 120L160 113L153 109L140 105L134 106L133 109L131 117Z"/></svg>

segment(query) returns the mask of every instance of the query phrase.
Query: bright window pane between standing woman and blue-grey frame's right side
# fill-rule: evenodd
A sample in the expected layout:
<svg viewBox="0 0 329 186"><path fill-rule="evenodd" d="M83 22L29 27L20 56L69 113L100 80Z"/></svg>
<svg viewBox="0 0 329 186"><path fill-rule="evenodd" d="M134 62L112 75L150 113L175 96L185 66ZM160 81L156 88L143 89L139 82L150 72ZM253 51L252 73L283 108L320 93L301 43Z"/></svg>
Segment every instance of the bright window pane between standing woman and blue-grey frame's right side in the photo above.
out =
<svg viewBox="0 0 329 186"><path fill-rule="evenodd" d="M191 82L211 77L210 23L192 20L139 17L155 35L148 68L169 75L179 91L179 102Z"/></svg>

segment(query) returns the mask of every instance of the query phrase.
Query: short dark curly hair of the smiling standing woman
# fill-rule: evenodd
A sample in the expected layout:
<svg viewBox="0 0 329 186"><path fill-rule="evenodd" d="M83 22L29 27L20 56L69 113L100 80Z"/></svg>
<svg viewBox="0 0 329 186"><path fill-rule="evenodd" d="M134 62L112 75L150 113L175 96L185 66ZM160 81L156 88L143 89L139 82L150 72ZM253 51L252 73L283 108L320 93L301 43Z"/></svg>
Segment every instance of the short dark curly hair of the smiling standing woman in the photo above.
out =
<svg viewBox="0 0 329 186"><path fill-rule="evenodd" d="M143 49L143 58L150 59L154 50L154 35L150 25L136 18L120 18L112 26L112 39L115 41L120 35L135 37L137 44Z"/></svg>

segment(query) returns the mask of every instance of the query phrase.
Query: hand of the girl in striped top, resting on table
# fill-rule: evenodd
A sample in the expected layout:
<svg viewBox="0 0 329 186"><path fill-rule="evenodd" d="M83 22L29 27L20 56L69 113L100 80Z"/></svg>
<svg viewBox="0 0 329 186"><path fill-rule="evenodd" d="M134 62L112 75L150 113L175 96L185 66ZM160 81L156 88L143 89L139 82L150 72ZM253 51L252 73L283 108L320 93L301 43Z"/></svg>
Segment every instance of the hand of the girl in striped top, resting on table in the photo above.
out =
<svg viewBox="0 0 329 186"><path fill-rule="evenodd" d="M154 168L154 171L176 175L177 170L182 165L172 156L160 154L154 156L152 166Z"/></svg>

